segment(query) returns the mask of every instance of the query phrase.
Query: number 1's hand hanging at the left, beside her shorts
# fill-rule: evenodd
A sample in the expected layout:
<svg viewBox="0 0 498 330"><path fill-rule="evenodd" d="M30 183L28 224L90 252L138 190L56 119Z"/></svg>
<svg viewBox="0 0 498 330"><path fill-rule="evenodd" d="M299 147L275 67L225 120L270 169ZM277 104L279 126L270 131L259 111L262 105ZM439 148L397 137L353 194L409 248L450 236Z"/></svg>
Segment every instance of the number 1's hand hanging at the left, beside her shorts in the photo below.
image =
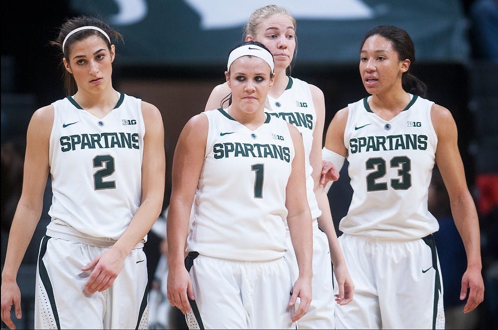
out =
<svg viewBox="0 0 498 330"><path fill-rule="evenodd" d="M168 271L168 300L176 306L183 314L190 312L190 300L194 300L194 290L190 275L185 267L169 269Z"/></svg>

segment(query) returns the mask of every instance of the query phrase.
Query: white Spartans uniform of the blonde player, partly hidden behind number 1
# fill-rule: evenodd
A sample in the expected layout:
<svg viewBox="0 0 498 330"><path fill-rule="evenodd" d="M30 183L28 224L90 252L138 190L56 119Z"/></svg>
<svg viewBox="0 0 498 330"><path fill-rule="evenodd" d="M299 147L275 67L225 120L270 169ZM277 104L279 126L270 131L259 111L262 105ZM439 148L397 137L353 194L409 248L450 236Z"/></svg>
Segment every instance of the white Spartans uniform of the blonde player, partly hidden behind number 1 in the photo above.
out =
<svg viewBox="0 0 498 330"><path fill-rule="evenodd" d="M308 313L298 322L298 329L334 329L334 291L333 273L330 259L330 248L327 236L318 228L317 218L322 214L314 192L314 181L311 176L313 168L309 162L313 132L316 126L316 112L313 97L308 83L289 77L289 83L278 98L270 95L266 98L266 107L270 114L284 119L297 127L303 137L306 159L306 192L313 218L313 300ZM287 259L289 261L292 278L295 281L299 275L299 268L292 248L290 234L287 228ZM296 304L297 305L297 304Z"/></svg>

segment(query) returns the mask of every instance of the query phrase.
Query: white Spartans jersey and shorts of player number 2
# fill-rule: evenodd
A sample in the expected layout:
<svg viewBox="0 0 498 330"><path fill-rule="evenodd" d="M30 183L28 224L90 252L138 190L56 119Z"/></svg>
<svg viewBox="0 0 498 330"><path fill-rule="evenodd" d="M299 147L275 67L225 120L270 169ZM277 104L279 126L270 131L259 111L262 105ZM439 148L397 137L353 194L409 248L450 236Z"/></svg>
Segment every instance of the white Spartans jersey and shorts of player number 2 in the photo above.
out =
<svg viewBox="0 0 498 330"><path fill-rule="evenodd" d="M110 288L83 291L93 269L81 267L113 246L140 205L141 100L119 96L102 119L71 96L53 103L52 220L38 257L36 329L146 329L146 237L124 259Z"/></svg>

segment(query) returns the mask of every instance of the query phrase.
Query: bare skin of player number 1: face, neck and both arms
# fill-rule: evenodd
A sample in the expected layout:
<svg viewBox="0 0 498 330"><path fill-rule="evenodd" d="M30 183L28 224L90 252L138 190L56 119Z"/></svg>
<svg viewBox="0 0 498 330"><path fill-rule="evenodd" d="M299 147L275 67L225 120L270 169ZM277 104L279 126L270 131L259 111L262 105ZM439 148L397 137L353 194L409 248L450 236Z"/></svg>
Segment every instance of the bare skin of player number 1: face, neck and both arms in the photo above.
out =
<svg viewBox="0 0 498 330"><path fill-rule="evenodd" d="M233 93L229 114L250 130L262 125L266 119L264 102L268 88L273 84L269 66L257 57L244 56L235 60L231 72L225 73L227 86ZM295 158L286 186L287 222L295 248L299 278L294 283L289 306L297 297L301 299L292 321L300 319L311 302L312 227L311 213L306 202L304 176L304 147L295 127L289 125ZM195 299L190 276L185 269L185 244L188 234L190 211L199 175L204 163L208 119L199 114L192 117L183 128L175 149L172 169L172 192L168 212L168 300L182 313L190 311L190 299ZM304 198L303 198L304 196Z"/></svg>

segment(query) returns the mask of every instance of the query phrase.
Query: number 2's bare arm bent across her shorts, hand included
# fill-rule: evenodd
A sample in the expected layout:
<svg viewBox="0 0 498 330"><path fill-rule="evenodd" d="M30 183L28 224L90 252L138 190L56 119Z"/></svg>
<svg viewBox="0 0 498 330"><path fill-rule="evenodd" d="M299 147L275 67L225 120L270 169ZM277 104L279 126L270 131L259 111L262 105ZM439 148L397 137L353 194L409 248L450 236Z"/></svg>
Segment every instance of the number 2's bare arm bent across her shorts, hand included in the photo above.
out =
<svg viewBox="0 0 498 330"><path fill-rule="evenodd" d="M145 237L161 213L166 170L163 122L161 113L154 105L142 101L141 107L145 136L140 207L113 247L82 268L94 268L85 285L85 290L89 293L102 292L114 283L126 256Z"/></svg>

